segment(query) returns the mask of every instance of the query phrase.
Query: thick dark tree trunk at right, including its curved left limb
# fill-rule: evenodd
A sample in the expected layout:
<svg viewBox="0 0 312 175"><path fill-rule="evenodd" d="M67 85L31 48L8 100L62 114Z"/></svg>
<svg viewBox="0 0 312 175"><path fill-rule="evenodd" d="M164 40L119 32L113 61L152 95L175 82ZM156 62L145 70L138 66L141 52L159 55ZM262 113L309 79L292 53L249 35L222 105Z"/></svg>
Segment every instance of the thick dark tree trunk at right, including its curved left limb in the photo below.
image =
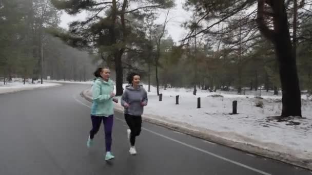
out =
<svg viewBox="0 0 312 175"><path fill-rule="evenodd" d="M268 4L273 16L274 30L267 27L264 20L265 4ZM283 0L258 0L258 26L261 33L274 43L279 63L282 88L281 117L301 115L301 93L297 73L296 55L291 45L288 17Z"/></svg>

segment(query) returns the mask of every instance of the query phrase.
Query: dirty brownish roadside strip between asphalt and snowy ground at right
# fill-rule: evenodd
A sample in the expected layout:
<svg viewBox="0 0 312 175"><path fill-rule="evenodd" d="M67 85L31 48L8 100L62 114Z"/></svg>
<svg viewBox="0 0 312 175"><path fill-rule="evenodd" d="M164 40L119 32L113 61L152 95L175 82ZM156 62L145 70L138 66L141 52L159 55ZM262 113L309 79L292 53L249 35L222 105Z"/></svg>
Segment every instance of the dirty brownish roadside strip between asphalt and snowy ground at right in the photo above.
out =
<svg viewBox="0 0 312 175"><path fill-rule="evenodd" d="M92 102L92 98L87 95L88 91L89 89L82 91L81 96L85 98L87 101ZM122 106L118 105L114 106L114 110L120 113L124 112ZM233 135L233 137L235 137L237 140L230 140L228 139L228 137L226 138L225 135L221 135L220 133L214 132L213 130L207 129L199 130L198 128L192 129L191 125L189 125L190 127L181 126L176 124L177 122L165 120L162 119L161 117L160 117L161 119L155 119L149 116L151 115L142 115L143 121L158 126L163 126L168 129L184 133L192 137L200 138L209 142L218 143L220 145L242 150L251 154L259 155L269 159L278 160L291 165L312 170L311 158L310 159L300 158L297 156L296 154L297 152L295 150L290 150L289 148L283 145L275 144L274 146L276 147L276 149L269 149L268 148L269 145L267 143L261 143L257 140L246 138L245 136ZM238 141L240 138L242 140ZM248 140L248 143L246 142L246 140ZM288 150L288 151L279 151L279 150Z"/></svg>

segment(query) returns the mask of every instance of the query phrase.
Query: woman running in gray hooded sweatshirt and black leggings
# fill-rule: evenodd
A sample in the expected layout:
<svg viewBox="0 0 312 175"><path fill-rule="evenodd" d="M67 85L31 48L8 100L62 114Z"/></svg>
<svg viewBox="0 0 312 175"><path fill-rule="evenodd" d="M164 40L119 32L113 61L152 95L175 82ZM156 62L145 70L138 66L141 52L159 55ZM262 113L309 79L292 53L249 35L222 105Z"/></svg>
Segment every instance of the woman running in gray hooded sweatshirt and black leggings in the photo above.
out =
<svg viewBox="0 0 312 175"><path fill-rule="evenodd" d="M140 85L140 75L130 73L127 76L129 85L126 86L121 99L124 106L125 119L130 129L127 129L128 139L130 140L130 154L136 155L135 137L141 133L143 107L147 105L147 93Z"/></svg>

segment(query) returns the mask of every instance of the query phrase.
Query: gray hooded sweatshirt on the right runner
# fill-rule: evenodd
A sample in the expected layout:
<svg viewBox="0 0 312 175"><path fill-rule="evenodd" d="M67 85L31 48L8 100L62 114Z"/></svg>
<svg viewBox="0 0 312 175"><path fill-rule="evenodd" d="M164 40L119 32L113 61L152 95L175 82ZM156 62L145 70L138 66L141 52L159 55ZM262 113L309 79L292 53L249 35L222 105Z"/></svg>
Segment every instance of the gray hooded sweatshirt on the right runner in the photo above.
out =
<svg viewBox="0 0 312 175"><path fill-rule="evenodd" d="M141 116L143 106L147 105L147 93L143 86L140 85L138 89L134 89L132 85L127 85L121 98L121 105L124 106L125 103L129 104L129 107L125 107L125 114Z"/></svg>

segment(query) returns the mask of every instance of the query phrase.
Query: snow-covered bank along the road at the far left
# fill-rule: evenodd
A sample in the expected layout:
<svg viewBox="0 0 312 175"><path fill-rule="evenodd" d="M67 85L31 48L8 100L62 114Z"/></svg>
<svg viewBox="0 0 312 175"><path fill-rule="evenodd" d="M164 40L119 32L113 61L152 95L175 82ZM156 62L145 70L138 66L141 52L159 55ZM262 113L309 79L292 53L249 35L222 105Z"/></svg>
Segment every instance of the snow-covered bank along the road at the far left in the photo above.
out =
<svg viewBox="0 0 312 175"><path fill-rule="evenodd" d="M32 84L30 79L28 79L24 84L21 78L13 78L11 82L8 82L8 84L4 85L3 82L0 83L0 94L33 90L38 88L48 88L51 86L59 86L59 85L61 84L50 82L44 82L43 84L41 84L40 81L35 81L34 84Z"/></svg>

